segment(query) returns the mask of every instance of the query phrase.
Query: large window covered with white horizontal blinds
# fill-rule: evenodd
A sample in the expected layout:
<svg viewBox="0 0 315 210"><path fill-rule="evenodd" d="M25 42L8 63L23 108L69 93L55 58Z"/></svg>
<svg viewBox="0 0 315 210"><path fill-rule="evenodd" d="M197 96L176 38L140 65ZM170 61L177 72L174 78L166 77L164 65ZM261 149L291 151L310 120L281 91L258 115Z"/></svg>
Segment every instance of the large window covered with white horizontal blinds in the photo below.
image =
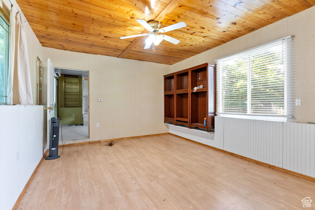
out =
<svg viewBox="0 0 315 210"><path fill-rule="evenodd" d="M289 117L291 36L216 60L217 114Z"/></svg>

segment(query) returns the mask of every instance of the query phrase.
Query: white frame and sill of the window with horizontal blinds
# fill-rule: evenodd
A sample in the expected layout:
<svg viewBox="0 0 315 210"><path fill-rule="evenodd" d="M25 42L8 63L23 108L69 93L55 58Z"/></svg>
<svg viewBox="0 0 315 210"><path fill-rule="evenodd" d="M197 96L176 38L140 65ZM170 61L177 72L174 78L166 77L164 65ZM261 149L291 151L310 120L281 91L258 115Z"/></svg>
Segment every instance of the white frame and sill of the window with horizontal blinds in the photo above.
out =
<svg viewBox="0 0 315 210"><path fill-rule="evenodd" d="M248 55L249 56L249 61L247 61L247 65L251 65L251 62L250 62L250 57L253 53L255 52L259 52L263 49L263 47L268 47L272 44L275 44L275 43L278 43L280 41L284 41L284 40L292 40L292 36L286 36L284 38L281 38L281 39L278 39L278 40L275 40L275 41L271 41L271 42L268 42L266 44L263 44L263 45L260 45L260 46L257 46L257 47L253 47L253 48L250 48L250 49L247 49L247 50L244 50L244 51L241 51L241 52L237 52L237 53L234 53L232 55L228 55L228 56L225 56L225 57L222 57L222 58L218 58L218 59L215 59L215 62L217 64L217 70L218 69L221 69L221 65L222 65L222 62L218 62L218 61L224 61L225 59L233 59L234 58L238 58L238 57L241 57L241 56L246 56ZM268 47L268 48L271 48ZM267 49L267 48L266 48ZM251 51L251 52L250 52ZM242 55L244 54L244 55ZM289 60L288 61L288 58L289 56L284 56L284 64L287 65L288 63L292 62L292 60ZM288 72L291 70L290 68L287 68L287 66L285 67L285 71L284 71L284 110L286 111L286 115L280 115L280 114L275 114L275 115L271 115L271 114L251 114L251 103L252 103L252 100L251 100L251 88L250 88L250 84L251 84L251 80L252 80L252 76L251 76L251 68L249 66L249 68L247 68L247 113L224 113L223 111L223 89L222 89L222 73L220 72L217 77L217 87L216 87L216 94L217 94L217 107L216 107L216 114L217 116L224 116L224 117L232 117L232 118L244 118L244 119L261 119L261 120L272 120L272 121L287 121L288 118L292 118L292 115L291 115L291 112L292 112L292 109L291 107L289 106L289 102L291 100L291 93L288 92L288 88L289 88L289 85L288 84L288 79L287 79L287 76L288 76Z"/></svg>

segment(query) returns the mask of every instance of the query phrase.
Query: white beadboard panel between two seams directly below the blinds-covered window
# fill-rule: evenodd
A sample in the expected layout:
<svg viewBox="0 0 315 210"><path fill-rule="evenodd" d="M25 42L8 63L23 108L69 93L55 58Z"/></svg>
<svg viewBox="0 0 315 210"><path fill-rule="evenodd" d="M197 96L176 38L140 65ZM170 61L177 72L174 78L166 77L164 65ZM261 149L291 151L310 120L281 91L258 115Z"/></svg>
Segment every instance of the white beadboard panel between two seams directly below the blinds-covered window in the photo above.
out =
<svg viewBox="0 0 315 210"><path fill-rule="evenodd" d="M224 150L278 167L282 167L282 135L282 122L224 119Z"/></svg>

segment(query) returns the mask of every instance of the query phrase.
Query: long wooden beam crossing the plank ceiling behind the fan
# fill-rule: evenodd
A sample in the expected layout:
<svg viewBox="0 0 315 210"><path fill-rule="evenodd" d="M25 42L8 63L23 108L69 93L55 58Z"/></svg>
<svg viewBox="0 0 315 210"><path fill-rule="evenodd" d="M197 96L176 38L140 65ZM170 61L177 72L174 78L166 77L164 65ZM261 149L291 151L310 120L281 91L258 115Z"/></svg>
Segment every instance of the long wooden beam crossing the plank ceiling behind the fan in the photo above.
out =
<svg viewBox="0 0 315 210"><path fill-rule="evenodd" d="M154 18L155 21L161 22L170 12L173 11L173 9L181 2L181 0L171 0L168 5ZM147 30L143 30L141 34L145 33ZM139 43L140 40L142 40L142 36L138 36L132 41L129 46L118 56L118 58L123 58L129 50L135 47L136 44Z"/></svg>

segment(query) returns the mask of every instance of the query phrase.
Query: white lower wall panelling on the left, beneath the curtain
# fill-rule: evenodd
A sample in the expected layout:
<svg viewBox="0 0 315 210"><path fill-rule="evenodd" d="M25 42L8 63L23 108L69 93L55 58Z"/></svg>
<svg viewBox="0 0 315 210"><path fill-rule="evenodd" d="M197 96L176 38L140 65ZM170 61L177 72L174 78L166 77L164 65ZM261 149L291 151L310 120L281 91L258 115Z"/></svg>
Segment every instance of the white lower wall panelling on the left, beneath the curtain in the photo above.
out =
<svg viewBox="0 0 315 210"><path fill-rule="evenodd" d="M12 209L43 157L43 111L0 106L0 209Z"/></svg>

